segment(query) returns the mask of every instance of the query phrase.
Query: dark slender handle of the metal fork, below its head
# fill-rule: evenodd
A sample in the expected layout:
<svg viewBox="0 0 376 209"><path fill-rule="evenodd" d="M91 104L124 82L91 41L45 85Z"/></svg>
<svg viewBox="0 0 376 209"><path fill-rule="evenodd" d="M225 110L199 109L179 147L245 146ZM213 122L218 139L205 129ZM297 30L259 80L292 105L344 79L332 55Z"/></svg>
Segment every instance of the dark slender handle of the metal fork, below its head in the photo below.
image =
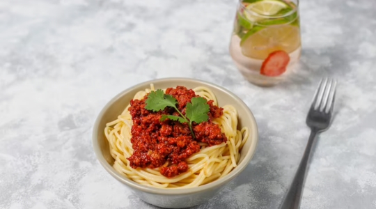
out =
<svg viewBox="0 0 376 209"><path fill-rule="evenodd" d="M306 171L308 169L308 162L311 158L311 150L313 150L313 147L315 146L317 134L317 130L311 130L311 135L309 136L306 150L304 150L304 155L301 158L297 173L295 173L295 177L292 180L290 188L288 189L287 194L285 194L285 198L279 207L280 209L297 209L300 206L300 199L301 194L303 193L302 190L306 177Z"/></svg>

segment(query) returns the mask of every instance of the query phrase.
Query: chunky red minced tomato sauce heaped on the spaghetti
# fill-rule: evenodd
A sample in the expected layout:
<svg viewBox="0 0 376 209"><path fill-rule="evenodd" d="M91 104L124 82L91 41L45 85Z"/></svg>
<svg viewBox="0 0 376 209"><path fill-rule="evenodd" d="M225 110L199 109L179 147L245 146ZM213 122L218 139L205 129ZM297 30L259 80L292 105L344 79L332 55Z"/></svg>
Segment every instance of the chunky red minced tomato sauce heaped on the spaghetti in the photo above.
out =
<svg viewBox="0 0 376 209"><path fill-rule="evenodd" d="M178 109L185 115L185 107L191 98L198 97L193 90L184 86L167 88L166 94L172 95L178 100ZM130 166L159 169L163 176L172 178L188 170L185 162L187 157L200 151L198 142L205 142L208 146L221 144L227 141L219 125L212 123L212 119L223 114L223 108L217 107L212 100L207 101L210 106L209 121L203 123L193 123L192 127L196 139L191 136L189 125L167 119L159 121L163 114L179 116L173 107L166 107L162 111L148 111L145 109L146 95L142 100L131 100L130 114L132 115L132 148L134 150L130 161ZM162 167L166 162L169 164Z"/></svg>

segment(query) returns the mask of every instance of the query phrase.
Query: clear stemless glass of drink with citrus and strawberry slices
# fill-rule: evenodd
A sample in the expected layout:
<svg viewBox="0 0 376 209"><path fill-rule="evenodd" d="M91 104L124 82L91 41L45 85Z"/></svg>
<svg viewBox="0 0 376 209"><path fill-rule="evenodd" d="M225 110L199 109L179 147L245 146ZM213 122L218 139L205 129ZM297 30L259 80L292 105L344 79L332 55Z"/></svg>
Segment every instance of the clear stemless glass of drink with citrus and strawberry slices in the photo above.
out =
<svg viewBox="0 0 376 209"><path fill-rule="evenodd" d="M260 86L293 72L301 53L299 0L243 0L237 7L230 54L242 75Z"/></svg>

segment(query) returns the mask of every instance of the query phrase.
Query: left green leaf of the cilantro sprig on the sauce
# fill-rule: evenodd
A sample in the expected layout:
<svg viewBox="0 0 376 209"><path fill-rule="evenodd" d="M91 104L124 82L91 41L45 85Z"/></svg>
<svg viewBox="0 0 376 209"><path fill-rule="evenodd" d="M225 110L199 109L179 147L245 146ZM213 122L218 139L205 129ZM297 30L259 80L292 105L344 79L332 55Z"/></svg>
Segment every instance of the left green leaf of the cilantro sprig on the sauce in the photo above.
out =
<svg viewBox="0 0 376 209"><path fill-rule="evenodd" d="M164 94L160 89L152 91L148 95L145 108L151 111L163 110L166 107L174 107L176 109L178 101L173 96Z"/></svg>

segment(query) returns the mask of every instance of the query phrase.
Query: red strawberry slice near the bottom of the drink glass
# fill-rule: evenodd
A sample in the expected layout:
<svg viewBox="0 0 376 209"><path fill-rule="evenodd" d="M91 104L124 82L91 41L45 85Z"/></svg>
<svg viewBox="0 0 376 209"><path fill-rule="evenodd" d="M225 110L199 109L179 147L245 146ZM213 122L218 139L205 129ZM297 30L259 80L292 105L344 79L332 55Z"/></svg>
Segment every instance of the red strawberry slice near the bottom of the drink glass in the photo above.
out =
<svg viewBox="0 0 376 209"><path fill-rule="evenodd" d="M279 76L286 71L290 56L285 51L275 51L267 56L261 65L260 73L266 76Z"/></svg>

